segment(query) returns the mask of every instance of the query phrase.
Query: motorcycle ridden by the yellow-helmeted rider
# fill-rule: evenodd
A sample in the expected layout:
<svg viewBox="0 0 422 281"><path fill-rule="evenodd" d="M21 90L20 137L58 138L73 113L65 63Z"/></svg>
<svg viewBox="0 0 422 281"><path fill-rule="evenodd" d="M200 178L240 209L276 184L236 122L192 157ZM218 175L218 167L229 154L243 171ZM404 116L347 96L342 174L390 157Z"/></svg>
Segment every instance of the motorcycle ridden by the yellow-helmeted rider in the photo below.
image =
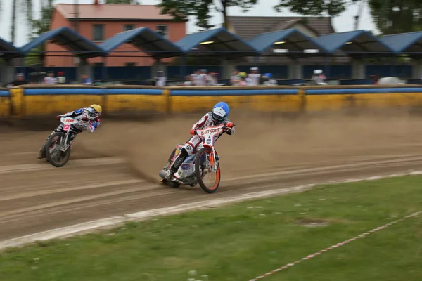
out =
<svg viewBox="0 0 422 281"><path fill-rule="evenodd" d="M68 162L70 150L72 148L70 133L77 134L73 125L82 122L82 120L71 117L61 117L60 122L63 124L63 126L60 126L61 130L54 132L45 145L47 161L58 168L65 166Z"/></svg>

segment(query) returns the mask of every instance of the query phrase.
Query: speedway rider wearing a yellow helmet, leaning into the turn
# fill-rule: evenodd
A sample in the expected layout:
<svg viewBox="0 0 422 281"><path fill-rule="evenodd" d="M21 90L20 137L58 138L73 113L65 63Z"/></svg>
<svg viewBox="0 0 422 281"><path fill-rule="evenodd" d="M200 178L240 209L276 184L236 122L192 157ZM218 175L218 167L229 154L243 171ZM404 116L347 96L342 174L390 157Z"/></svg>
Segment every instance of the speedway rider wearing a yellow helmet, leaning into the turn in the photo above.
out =
<svg viewBox="0 0 422 281"><path fill-rule="evenodd" d="M103 112L103 109L100 105L90 105L89 107L79 108L78 110L74 110L63 115L58 115L56 118L60 119L61 117L72 117L74 119L80 120L80 122L77 124L72 125L72 129L76 131L76 133L70 134L70 143L72 143L78 133L82 133L83 131L89 131L90 133L93 133L98 128L98 126L100 126L100 119L98 119L98 117L101 115L101 112ZM53 131L53 133L62 131L62 129L63 124L60 124L60 126L58 126ZM51 135L53 135L53 133L51 133ZM51 135L46 139L45 143L39 150L38 159L43 159L46 157L46 148L44 148L44 146L46 145L47 141L49 141Z"/></svg>

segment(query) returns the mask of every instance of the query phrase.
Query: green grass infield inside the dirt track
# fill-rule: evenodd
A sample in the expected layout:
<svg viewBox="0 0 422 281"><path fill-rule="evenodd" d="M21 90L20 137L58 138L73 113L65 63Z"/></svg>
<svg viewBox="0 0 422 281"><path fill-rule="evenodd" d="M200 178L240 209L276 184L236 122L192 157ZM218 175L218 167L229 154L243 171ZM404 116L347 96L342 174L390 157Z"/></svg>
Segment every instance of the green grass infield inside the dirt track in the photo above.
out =
<svg viewBox="0 0 422 281"><path fill-rule="evenodd" d="M421 186L421 176L323 185L300 194L8 249L0 256L0 280L247 281L421 210ZM264 280L421 281L421 217ZM308 228L297 223L301 219L329 224Z"/></svg>

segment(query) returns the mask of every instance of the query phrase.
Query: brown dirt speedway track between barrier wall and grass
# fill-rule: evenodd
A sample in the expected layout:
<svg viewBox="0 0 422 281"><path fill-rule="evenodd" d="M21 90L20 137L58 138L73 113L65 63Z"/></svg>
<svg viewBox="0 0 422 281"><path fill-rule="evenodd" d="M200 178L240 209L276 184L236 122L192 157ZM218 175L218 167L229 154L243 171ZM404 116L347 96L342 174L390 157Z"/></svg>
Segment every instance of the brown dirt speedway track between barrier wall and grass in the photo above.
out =
<svg viewBox="0 0 422 281"><path fill-rule="evenodd" d="M0 240L242 192L421 169L422 118L394 115L234 116L236 135L217 143L222 185L213 195L156 183L198 115L148 123L105 120L96 133L78 136L72 159L60 169L36 159L49 131L2 127Z"/></svg>

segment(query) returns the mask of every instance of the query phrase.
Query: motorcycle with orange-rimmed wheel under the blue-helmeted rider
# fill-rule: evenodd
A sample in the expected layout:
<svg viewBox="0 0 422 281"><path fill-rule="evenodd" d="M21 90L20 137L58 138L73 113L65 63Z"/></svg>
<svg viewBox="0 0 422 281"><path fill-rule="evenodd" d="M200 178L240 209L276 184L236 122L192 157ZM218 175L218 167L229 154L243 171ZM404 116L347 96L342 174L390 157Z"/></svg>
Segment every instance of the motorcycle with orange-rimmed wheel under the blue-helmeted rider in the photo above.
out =
<svg viewBox="0 0 422 281"><path fill-rule="evenodd" d="M236 125L233 125L236 126ZM210 126L205 129L197 129L196 135L201 138L201 143L196 148L196 153L188 155L179 169L174 173L172 179L167 181L165 174L172 166L174 159L179 155L183 144L176 145L170 154L165 166L159 173L160 181L172 188L179 188L180 185L200 185L207 193L217 191L220 183L221 172L219 166L219 155L214 148L215 141L227 129L226 124ZM231 128L234 131L234 128ZM209 182L207 181L209 179Z"/></svg>

